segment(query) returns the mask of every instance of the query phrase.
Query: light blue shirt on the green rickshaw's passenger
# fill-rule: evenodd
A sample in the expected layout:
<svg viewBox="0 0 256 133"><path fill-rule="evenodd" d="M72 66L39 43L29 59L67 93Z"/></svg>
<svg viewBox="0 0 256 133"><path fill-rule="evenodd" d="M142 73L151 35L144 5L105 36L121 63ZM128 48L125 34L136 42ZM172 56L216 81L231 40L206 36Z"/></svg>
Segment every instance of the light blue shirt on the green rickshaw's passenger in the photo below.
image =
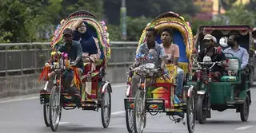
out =
<svg viewBox="0 0 256 133"><path fill-rule="evenodd" d="M240 45L238 46L237 50L231 49L231 47L226 48L224 50L224 53L231 53L234 55L234 57L238 57L238 59L242 62L241 69L246 68L246 65L248 65L249 54L248 54L247 50L240 47ZM232 57L232 55L226 54L226 57Z"/></svg>

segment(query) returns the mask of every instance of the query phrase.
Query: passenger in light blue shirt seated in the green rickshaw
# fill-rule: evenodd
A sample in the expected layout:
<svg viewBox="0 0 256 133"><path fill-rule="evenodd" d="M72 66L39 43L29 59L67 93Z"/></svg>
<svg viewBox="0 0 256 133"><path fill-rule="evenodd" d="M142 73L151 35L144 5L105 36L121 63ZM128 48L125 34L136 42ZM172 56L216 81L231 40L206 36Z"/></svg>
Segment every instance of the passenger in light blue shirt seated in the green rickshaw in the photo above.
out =
<svg viewBox="0 0 256 133"><path fill-rule="evenodd" d="M242 48L240 45L238 45L238 37L231 35L228 38L227 45L229 45L229 48L226 48L224 50L224 53L231 53L234 55L234 57L238 57L238 59L242 62L241 64L241 84L240 88L245 89L246 87L242 87L242 85L246 85L246 66L248 65L249 61L249 54L246 49ZM227 54L226 57L232 57L230 54ZM238 96L238 92L236 92Z"/></svg>

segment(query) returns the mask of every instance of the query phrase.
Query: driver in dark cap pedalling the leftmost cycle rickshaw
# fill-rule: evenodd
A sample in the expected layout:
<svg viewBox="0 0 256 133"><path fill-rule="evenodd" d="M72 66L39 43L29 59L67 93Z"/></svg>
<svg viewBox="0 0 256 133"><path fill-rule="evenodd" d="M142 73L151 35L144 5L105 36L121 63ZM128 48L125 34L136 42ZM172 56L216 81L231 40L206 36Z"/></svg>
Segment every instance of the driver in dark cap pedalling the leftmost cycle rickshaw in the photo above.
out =
<svg viewBox="0 0 256 133"><path fill-rule="evenodd" d="M70 66L75 66L78 67L78 75L81 76L83 72L83 64L82 64L82 46L78 41L72 40L74 37L74 32L72 29L66 28L63 31L63 36L64 36L64 43L60 45L57 49L59 52L65 52L68 53L68 56L70 57L71 65ZM47 63L46 63L47 64ZM69 76L65 76L66 78L64 79L63 86L70 86L70 72L68 74ZM48 83L46 84L46 88L52 88L53 87L53 77L55 76L55 72L50 72L48 74L50 77ZM72 77L73 78L73 77ZM70 95L78 94L79 91L77 88L73 87L74 84L71 84L70 88L68 89ZM46 92L45 89L42 88L40 92Z"/></svg>

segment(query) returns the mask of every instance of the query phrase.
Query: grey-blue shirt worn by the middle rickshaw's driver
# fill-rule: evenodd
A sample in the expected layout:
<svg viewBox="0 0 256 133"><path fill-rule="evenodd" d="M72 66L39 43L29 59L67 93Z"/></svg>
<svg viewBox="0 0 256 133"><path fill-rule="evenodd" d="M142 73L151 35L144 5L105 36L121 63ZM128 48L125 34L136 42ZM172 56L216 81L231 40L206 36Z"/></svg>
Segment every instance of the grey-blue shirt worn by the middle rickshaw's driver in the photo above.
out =
<svg viewBox="0 0 256 133"><path fill-rule="evenodd" d="M156 52L157 52L157 57L155 58L154 62L156 63L156 66L160 66L159 58L166 57L165 50L156 41L155 41L155 45L154 45L154 50L156 50ZM147 43L144 43L138 47L136 54L149 54L149 51L150 51L150 49L149 49Z"/></svg>

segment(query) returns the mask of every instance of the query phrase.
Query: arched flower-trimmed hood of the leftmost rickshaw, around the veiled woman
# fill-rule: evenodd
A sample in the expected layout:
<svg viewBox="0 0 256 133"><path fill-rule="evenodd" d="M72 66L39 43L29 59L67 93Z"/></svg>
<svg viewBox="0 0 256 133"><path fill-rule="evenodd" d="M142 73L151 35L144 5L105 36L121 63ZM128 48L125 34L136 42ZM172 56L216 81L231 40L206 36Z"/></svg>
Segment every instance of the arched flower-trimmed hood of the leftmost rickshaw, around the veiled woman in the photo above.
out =
<svg viewBox="0 0 256 133"><path fill-rule="evenodd" d="M68 18L62 20L62 22L58 25L54 32L54 37L52 41L52 47L62 44L62 32L66 28L70 28L71 25L74 24L78 20L78 18L82 18L83 21L87 22L89 26L87 27L90 29L90 34L98 39L99 46L101 49L101 57L100 60L108 60L110 58L110 48L109 48L109 39L108 33L106 32L106 25L105 22L100 22L94 14L91 14L87 11L77 11L73 14L70 14Z"/></svg>

